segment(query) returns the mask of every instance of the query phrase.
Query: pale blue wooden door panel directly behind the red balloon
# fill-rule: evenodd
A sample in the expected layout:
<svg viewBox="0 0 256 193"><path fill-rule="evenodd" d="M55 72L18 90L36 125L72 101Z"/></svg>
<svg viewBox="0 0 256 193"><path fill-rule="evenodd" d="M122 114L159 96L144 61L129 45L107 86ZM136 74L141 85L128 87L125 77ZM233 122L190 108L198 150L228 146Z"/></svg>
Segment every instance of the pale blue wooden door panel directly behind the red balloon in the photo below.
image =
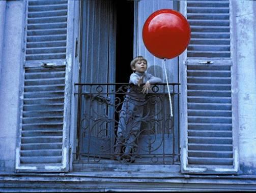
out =
<svg viewBox="0 0 256 193"><path fill-rule="evenodd" d="M134 54L135 56L141 55L144 56L148 60L148 73L153 74L154 76L157 76L163 80L163 83L166 83L165 79L165 74L164 74L164 69L163 69L163 60L159 59L157 57L154 57L145 47L143 43L143 37L142 37L142 30L143 30L143 25L147 18L155 11L160 10L160 9L174 9L174 1L166 1L166 0L161 0L161 1L138 1L136 2L135 8L135 23L137 24L135 28L135 50ZM176 8L178 8L176 6ZM134 56L134 57L135 57ZM178 58L174 58L172 60L166 60L166 71L167 71L167 76L168 76L168 82L169 83L177 83L179 82L179 75L178 75ZM173 88L170 87L170 90L172 91ZM167 93L167 87L165 88L165 91ZM178 91L177 91L178 92ZM169 148L168 153L175 151L175 153L179 152L179 131L178 131L178 96L174 96L172 98L173 101L173 114L174 118L171 118L172 123L169 123L169 126L172 128L166 127L164 123L162 123L161 128L159 126L156 126L158 128L156 130L157 134L162 134L162 133L174 133L174 138L176 140L173 140L172 138L166 138L166 146L163 147L161 150L164 148ZM152 109L152 111L157 111L157 108ZM166 95L166 98L164 99L164 109L163 109L163 119L166 120L170 117L170 107L169 107L169 100ZM175 120L175 121L174 121ZM172 125L174 124L174 125ZM172 125L172 126L171 126ZM174 130L174 131L173 131ZM143 138L141 138L143 140ZM143 143L143 142L141 142ZM175 145L174 145L175 144ZM174 147L175 146L175 147ZM173 149L174 147L174 149ZM160 151L161 151L160 150ZM159 151L159 152L160 152ZM166 151L167 152L167 151Z"/></svg>

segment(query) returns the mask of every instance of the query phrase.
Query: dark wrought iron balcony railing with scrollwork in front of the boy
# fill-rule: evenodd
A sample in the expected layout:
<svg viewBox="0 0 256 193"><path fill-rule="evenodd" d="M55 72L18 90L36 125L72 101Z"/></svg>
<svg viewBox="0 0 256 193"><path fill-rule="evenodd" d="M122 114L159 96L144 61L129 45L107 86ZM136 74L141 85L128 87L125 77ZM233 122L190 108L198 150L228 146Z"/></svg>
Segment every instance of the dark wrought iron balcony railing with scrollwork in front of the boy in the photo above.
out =
<svg viewBox="0 0 256 193"><path fill-rule="evenodd" d="M74 160L86 163L177 164L178 90L152 85L148 94L132 84L75 84L78 147Z"/></svg>

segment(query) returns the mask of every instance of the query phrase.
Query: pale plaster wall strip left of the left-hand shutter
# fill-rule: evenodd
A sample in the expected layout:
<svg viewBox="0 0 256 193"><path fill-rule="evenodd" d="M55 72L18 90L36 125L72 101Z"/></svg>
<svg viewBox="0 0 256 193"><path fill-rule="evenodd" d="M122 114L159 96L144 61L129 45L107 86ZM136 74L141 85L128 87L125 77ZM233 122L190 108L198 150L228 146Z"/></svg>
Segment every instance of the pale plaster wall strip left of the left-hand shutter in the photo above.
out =
<svg viewBox="0 0 256 193"><path fill-rule="evenodd" d="M23 1L6 2L0 82L0 171L14 171L24 10Z"/></svg>

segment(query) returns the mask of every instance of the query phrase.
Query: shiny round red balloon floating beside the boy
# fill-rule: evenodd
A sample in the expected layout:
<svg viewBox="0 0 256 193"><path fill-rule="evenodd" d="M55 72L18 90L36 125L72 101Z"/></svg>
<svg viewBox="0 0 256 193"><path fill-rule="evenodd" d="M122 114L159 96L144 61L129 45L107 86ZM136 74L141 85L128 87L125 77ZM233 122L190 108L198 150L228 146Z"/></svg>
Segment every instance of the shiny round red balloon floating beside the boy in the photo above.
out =
<svg viewBox="0 0 256 193"><path fill-rule="evenodd" d="M151 54L171 59L186 50L190 41L187 19L177 11L161 9L152 13L143 26L143 42Z"/></svg>

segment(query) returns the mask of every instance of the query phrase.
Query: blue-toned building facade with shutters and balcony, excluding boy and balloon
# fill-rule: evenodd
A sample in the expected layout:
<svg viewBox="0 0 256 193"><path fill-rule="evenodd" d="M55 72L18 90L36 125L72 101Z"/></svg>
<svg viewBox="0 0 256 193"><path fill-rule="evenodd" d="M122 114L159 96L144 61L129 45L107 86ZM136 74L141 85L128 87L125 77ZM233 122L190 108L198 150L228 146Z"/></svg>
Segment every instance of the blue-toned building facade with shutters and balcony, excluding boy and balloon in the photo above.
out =
<svg viewBox="0 0 256 193"><path fill-rule="evenodd" d="M166 61L141 35L159 9L191 28ZM1 191L255 190L254 18L254 1L1 1ZM138 55L163 83L143 100L136 148L117 159Z"/></svg>

